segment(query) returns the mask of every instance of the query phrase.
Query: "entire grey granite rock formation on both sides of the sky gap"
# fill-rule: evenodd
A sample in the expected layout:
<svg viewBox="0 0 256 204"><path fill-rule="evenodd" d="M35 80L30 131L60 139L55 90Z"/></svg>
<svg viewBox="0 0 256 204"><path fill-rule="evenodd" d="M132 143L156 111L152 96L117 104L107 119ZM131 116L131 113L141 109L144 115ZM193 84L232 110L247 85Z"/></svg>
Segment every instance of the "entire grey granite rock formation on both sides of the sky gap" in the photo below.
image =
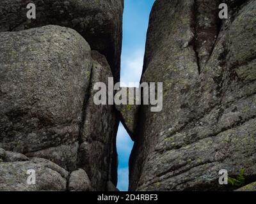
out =
<svg viewBox="0 0 256 204"><path fill-rule="evenodd" d="M141 82L163 82L161 112L94 103L97 82L119 81L123 8L1 0L0 191L118 191L119 120L134 140L130 190L231 191L219 171L244 169L237 191L255 191L256 0L156 0Z"/></svg>

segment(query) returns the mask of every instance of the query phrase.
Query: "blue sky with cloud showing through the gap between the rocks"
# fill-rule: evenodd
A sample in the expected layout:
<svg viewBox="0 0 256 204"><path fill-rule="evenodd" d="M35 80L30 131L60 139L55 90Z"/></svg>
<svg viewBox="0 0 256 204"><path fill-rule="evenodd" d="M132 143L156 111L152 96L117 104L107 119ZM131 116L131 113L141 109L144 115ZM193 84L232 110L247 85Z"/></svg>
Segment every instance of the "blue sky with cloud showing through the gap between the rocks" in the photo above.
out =
<svg viewBox="0 0 256 204"><path fill-rule="evenodd" d="M123 45L121 83L138 86L143 66L145 41L150 10L155 0L125 0L123 19ZM120 123L117 133L118 189L128 189L128 162L133 142Z"/></svg>

